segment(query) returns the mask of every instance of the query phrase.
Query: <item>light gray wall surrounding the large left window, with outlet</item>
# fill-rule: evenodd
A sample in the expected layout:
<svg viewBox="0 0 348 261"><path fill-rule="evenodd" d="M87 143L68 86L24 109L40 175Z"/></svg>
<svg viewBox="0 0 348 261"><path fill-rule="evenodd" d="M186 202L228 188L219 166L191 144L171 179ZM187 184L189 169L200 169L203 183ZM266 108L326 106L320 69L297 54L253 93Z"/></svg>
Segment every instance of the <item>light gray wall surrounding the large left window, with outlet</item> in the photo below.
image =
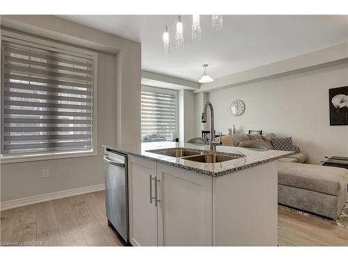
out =
<svg viewBox="0 0 348 261"><path fill-rule="evenodd" d="M141 45L50 15L3 15L1 25L100 51L97 77L98 155L1 164L1 203L103 184L102 145L138 142L141 137ZM49 169L49 178L41 177L42 168Z"/></svg>

